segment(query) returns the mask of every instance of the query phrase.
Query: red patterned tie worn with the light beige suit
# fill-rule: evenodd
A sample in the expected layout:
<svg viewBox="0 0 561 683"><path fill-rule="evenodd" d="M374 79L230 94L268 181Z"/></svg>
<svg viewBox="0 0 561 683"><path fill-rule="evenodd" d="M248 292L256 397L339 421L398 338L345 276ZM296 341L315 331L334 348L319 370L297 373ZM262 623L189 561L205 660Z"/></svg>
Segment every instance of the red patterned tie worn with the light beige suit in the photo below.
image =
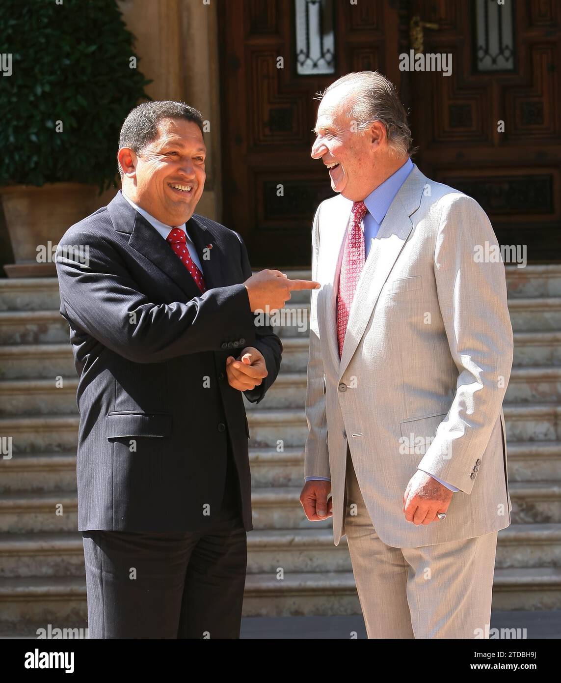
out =
<svg viewBox="0 0 561 683"><path fill-rule="evenodd" d="M362 267L364 266L364 233L360 223L366 214L364 201L355 201L351 210L341 275L339 276L339 292L337 294L337 341L339 342L339 357L343 355L343 344L349 322L349 313L353 303L354 293Z"/></svg>

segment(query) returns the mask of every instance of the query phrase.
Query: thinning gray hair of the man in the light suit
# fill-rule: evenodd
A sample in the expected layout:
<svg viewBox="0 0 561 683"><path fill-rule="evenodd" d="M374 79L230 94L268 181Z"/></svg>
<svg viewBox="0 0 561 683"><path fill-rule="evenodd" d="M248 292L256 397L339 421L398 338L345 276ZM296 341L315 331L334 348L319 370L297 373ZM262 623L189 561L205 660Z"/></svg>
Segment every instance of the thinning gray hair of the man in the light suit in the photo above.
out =
<svg viewBox="0 0 561 683"><path fill-rule="evenodd" d="M403 156L416 151L407 124L407 112L393 83L386 76L377 71L346 74L334 81L323 93L318 93L315 99L322 100L339 85L349 85L356 93L349 115L357 122L359 130L366 130L374 121L379 121L386 128L388 146L395 154Z"/></svg>

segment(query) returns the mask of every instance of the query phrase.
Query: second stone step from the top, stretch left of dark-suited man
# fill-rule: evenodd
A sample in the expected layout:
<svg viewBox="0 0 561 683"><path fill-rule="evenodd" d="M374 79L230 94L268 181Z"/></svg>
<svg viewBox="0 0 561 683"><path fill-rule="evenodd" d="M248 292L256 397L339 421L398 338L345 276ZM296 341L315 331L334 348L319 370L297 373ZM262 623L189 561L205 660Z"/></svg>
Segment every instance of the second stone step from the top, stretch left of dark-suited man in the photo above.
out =
<svg viewBox="0 0 561 683"><path fill-rule="evenodd" d="M70 327L59 311L0 311L0 345L70 345Z"/></svg>

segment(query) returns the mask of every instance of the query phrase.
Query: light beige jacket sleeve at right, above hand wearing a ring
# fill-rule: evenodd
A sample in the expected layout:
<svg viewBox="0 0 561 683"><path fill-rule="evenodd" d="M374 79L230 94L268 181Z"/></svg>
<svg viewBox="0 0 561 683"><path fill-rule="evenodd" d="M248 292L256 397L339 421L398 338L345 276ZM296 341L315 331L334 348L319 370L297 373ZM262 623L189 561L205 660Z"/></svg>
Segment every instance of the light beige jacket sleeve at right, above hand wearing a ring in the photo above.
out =
<svg viewBox="0 0 561 683"><path fill-rule="evenodd" d="M471 197L446 195L434 253L438 302L458 370L448 414L418 464L470 493L470 474L500 418L513 364L504 264L480 262L478 245L498 249L487 214ZM497 457L500 454L496 454Z"/></svg>

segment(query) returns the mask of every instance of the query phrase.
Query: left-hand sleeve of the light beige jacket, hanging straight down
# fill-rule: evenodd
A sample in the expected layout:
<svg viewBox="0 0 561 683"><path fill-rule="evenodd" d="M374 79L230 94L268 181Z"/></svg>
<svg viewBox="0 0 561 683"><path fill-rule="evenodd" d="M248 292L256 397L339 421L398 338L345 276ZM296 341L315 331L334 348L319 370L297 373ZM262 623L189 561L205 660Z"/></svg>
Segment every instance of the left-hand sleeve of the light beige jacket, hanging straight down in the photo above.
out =
<svg viewBox="0 0 561 683"><path fill-rule="evenodd" d="M319 212L315 212L312 228L312 279L317 280L319 257ZM319 328L317 326L317 296L320 290L312 290L310 307L310 353L308 357L308 383L306 387L306 422L308 437L304 448L304 479L323 477L330 479L329 452L327 445L327 418L325 395L325 371L321 358Z"/></svg>

